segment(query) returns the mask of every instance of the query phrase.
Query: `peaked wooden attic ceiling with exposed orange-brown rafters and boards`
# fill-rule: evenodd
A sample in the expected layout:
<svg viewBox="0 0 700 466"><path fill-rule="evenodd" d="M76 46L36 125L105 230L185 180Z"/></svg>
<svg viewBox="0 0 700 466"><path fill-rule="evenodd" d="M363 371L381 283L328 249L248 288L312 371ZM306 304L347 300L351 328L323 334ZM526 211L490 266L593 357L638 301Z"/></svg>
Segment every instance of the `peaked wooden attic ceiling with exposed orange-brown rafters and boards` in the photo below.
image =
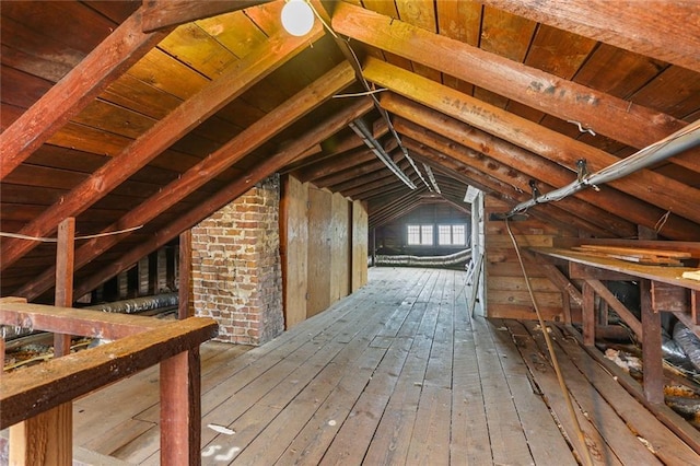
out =
<svg viewBox="0 0 700 466"><path fill-rule="evenodd" d="M468 209L468 186L515 206L579 160L593 173L698 139L695 1L312 4L326 27L299 38L282 1L2 2L3 235L51 237L68 217L78 235L139 228L78 243L80 295L272 173L366 201L374 228L424 202ZM696 147L529 213L698 241L699 174ZM55 249L4 235L0 293L50 290Z"/></svg>

